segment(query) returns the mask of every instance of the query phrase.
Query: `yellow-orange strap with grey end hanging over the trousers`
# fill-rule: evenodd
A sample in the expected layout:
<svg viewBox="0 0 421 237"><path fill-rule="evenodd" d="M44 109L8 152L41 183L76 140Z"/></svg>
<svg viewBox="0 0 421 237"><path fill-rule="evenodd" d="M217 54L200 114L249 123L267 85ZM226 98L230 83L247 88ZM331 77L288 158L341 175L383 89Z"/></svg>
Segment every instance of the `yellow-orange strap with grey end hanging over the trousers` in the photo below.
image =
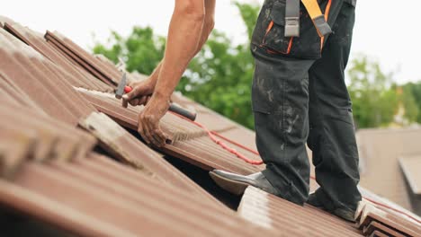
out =
<svg viewBox="0 0 421 237"><path fill-rule="evenodd" d="M320 10L318 0L301 0L301 3L306 7L320 38L332 33L332 29L326 22L325 15Z"/></svg>

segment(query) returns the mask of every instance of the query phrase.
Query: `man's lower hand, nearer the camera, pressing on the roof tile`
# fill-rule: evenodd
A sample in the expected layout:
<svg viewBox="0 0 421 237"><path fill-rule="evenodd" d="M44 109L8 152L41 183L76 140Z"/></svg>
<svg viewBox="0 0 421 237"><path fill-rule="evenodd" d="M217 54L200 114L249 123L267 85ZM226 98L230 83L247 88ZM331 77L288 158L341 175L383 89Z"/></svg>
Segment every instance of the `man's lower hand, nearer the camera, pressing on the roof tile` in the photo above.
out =
<svg viewBox="0 0 421 237"><path fill-rule="evenodd" d="M153 96L139 113L138 132L147 144L157 147L166 145L167 136L159 126L159 120L164 117L169 105L169 100Z"/></svg>

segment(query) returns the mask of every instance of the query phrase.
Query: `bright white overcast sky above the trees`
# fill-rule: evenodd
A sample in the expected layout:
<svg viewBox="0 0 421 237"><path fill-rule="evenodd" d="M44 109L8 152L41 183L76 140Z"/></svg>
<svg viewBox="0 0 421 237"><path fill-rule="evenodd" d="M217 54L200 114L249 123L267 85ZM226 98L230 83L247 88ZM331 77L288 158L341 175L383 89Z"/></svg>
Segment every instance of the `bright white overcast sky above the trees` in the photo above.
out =
<svg viewBox="0 0 421 237"><path fill-rule="evenodd" d="M216 0L216 25L235 43L246 41L246 29L231 0ZM263 0L238 0L262 4ZM335 0L334 0L335 1ZM166 35L173 0L13 0L5 1L0 15L32 30L59 31L83 48L94 41L106 42L110 31L129 35L135 25L151 26ZM380 4L381 3L381 4ZM399 83L421 80L421 1L359 0L351 58L360 54L381 63L384 72L394 72Z"/></svg>

